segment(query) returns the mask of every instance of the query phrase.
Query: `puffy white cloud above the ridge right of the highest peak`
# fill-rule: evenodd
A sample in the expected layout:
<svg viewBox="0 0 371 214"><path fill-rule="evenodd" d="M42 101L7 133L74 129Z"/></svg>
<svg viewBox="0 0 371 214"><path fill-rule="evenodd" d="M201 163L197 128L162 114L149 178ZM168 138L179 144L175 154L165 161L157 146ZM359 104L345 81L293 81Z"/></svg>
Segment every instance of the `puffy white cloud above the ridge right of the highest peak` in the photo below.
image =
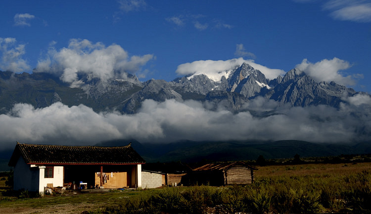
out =
<svg viewBox="0 0 371 214"><path fill-rule="evenodd" d="M334 81L342 85L354 85L355 80L353 76L344 76L340 71L350 68L349 62L334 57L332 60L324 59L317 63L310 63L307 59L304 59L301 64L296 65L301 71L312 76L316 81ZM359 74L355 74L359 76Z"/></svg>

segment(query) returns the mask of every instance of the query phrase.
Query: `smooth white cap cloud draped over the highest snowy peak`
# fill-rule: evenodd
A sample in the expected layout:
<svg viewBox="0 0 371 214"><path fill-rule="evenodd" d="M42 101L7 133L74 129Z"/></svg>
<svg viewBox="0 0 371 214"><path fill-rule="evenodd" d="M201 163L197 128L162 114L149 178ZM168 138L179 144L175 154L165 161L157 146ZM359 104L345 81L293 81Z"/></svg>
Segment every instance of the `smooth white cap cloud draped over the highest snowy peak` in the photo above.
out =
<svg viewBox="0 0 371 214"><path fill-rule="evenodd" d="M244 60L243 58L232 59L232 60L200 60L192 63L185 63L178 66L176 72L181 75L187 74L206 74L213 77L214 81L220 81L222 78L223 71L232 70L237 66L247 63L253 68L261 71L268 79L274 79L278 75L282 75L285 72L279 69L270 69L265 66L254 63L254 60Z"/></svg>

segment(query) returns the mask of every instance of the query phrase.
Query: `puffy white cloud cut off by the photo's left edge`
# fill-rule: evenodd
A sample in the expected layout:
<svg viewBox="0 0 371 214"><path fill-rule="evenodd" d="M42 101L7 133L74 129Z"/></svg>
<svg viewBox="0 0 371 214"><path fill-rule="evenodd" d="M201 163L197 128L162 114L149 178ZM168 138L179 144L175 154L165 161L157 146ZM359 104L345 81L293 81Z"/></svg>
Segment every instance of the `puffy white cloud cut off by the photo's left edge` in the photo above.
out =
<svg viewBox="0 0 371 214"><path fill-rule="evenodd" d="M15 38L0 37L0 70L22 72L30 70L30 66L22 56L26 53L24 44L16 44Z"/></svg>

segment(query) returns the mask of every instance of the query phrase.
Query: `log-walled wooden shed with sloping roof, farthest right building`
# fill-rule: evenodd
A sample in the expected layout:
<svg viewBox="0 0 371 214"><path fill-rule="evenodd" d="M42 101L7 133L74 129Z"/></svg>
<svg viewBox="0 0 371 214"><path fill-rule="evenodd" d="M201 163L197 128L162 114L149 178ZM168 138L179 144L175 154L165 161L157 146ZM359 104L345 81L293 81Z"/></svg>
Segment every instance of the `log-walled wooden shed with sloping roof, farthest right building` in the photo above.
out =
<svg viewBox="0 0 371 214"><path fill-rule="evenodd" d="M190 184L212 186L249 184L254 181L255 167L243 162L213 163L193 169Z"/></svg>

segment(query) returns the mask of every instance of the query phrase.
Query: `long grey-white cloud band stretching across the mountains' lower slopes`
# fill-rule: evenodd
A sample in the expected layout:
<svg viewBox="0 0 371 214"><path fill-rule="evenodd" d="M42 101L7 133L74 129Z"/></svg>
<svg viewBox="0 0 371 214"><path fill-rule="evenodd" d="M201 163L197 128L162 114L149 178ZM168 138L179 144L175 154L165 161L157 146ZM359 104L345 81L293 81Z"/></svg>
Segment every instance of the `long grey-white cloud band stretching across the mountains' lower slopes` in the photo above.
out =
<svg viewBox="0 0 371 214"><path fill-rule="evenodd" d="M364 97L349 98L365 100ZM84 105L55 103L45 108L17 104L0 115L2 149L14 141L92 145L113 139L134 138L142 143L179 140L303 140L317 143L368 140L371 135L370 102L363 105L290 107L265 98L251 100L245 111L211 111L201 102L162 103L146 100L138 113L96 113ZM270 111L265 117L249 110ZM361 130L361 131L360 131ZM5 144L6 142L10 144Z"/></svg>

